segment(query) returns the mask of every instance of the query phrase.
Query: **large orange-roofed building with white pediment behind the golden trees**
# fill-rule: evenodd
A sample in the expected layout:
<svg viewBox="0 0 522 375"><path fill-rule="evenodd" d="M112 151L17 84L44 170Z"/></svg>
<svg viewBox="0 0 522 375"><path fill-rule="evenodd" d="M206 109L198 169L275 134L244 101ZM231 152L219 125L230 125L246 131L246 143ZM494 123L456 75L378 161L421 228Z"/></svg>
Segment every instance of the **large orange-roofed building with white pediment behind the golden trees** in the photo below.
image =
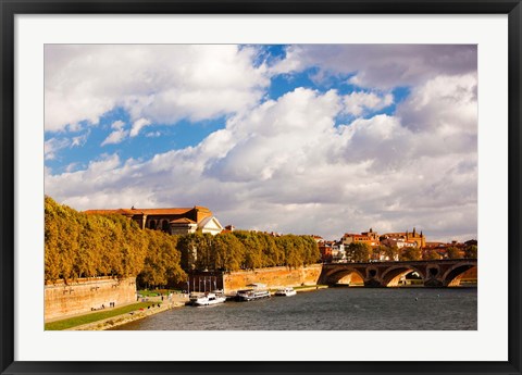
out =
<svg viewBox="0 0 522 375"><path fill-rule="evenodd" d="M216 235L223 226L204 207L195 205L190 209L117 209L117 210L87 210L87 214L121 214L145 229L163 230L171 235L186 235L200 230Z"/></svg>

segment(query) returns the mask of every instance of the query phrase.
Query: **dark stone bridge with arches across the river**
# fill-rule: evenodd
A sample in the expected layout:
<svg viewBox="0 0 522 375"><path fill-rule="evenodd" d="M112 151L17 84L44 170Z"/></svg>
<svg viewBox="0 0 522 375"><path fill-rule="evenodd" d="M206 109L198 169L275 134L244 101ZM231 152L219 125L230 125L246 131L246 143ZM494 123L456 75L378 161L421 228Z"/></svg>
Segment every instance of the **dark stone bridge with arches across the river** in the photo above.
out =
<svg viewBox="0 0 522 375"><path fill-rule="evenodd" d="M359 275L365 287L398 286L402 277L417 272L425 287L460 285L462 274L476 267L476 259L323 264L319 283L333 285L350 274Z"/></svg>

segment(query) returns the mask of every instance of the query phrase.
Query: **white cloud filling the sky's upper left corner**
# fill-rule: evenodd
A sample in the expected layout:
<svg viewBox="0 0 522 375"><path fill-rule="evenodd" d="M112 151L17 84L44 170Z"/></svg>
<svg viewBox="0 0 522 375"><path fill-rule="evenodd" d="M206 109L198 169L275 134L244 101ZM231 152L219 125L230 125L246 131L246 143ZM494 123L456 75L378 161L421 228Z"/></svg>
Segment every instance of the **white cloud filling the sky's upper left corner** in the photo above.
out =
<svg viewBox="0 0 522 375"><path fill-rule="evenodd" d="M232 45L48 45L46 130L96 125L116 107L162 124L243 111L270 83L254 58Z"/></svg>

